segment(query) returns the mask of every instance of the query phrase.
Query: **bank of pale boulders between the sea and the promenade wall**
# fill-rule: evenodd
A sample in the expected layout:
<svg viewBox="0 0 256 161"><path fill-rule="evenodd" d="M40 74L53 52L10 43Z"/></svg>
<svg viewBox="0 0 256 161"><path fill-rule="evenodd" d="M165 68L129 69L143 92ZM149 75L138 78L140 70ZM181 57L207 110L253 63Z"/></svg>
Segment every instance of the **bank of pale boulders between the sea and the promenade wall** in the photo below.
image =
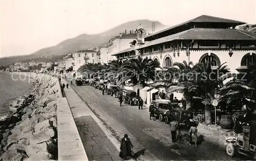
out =
<svg viewBox="0 0 256 161"><path fill-rule="evenodd" d="M57 78L37 74L32 92L0 121L0 160L57 160Z"/></svg>

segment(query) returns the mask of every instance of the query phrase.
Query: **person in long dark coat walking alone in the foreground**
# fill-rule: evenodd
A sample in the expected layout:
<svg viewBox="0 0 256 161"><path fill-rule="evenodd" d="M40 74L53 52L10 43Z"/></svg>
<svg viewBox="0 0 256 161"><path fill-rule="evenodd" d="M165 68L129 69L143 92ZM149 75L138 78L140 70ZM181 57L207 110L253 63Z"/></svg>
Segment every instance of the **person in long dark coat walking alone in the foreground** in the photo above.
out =
<svg viewBox="0 0 256 161"><path fill-rule="evenodd" d="M128 138L128 135L125 134L123 139L121 140L119 156L124 160L127 160L127 156L132 156L132 148L133 144Z"/></svg>

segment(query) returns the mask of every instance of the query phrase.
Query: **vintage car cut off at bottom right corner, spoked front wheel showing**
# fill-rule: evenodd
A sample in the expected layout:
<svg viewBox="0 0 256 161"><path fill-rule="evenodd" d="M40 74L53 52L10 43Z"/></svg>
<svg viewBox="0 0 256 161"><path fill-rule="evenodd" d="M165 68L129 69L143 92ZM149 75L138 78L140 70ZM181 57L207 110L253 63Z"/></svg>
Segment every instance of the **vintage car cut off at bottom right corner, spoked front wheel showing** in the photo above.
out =
<svg viewBox="0 0 256 161"><path fill-rule="evenodd" d="M226 154L230 157L242 154L256 160L256 121L246 122L242 127L243 135L225 136Z"/></svg>

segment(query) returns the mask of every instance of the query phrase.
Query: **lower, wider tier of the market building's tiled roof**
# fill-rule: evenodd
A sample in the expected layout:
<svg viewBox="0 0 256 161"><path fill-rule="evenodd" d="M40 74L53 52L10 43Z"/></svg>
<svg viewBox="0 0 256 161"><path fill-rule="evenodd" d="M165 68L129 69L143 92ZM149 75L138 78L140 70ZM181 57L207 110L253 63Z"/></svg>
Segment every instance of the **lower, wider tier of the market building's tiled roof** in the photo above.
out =
<svg viewBox="0 0 256 161"><path fill-rule="evenodd" d="M177 34L150 41L136 49L153 46L173 40L256 40L256 34L234 29L194 28Z"/></svg>

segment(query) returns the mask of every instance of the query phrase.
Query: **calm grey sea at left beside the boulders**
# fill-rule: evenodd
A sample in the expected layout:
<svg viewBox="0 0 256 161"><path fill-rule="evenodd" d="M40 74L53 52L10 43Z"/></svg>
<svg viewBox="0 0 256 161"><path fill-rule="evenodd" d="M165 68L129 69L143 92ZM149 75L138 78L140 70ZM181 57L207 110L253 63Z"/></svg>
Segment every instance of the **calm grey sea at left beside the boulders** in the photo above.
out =
<svg viewBox="0 0 256 161"><path fill-rule="evenodd" d="M0 73L0 120L5 120L16 111L18 100L22 103L31 85L32 81L25 75Z"/></svg>

